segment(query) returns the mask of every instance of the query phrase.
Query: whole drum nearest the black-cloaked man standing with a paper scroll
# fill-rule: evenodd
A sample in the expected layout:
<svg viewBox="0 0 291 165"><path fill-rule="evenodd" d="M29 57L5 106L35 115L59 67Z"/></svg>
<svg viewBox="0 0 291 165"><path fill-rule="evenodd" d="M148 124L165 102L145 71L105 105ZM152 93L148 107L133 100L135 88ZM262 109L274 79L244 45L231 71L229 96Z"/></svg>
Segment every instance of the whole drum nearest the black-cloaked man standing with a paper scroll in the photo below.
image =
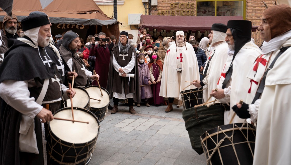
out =
<svg viewBox="0 0 291 165"><path fill-rule="evenodd" d="M90 98L100 99L101 101L90 99L90 109L96 115L100 122L103 121L107 112L108 106L110 103L110 95L108 91L101 87L102 94L99 89L99 86L88 86L85 88L86 92L88 92Z"/></svg>

